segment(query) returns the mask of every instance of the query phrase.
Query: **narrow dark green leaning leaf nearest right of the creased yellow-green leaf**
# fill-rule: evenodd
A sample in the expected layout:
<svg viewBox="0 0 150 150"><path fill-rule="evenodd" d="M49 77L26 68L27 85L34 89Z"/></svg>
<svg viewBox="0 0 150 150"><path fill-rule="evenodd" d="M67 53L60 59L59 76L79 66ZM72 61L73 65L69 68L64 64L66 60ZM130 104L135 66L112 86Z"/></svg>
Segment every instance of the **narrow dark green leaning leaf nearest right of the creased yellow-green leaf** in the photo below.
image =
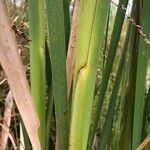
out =
<svg viewBox="0 0 150 150"><path fill-rule="evenodd" d="M119 5L124 5L124 7L127 7L127 4L128 4L128 0L120 0L119 1ZM100 89L99 89L99 95L98 95L99 101L96 106L96 115L94 118L94 125L93 125L93 129L91 131L90 137L89 137L89 149L91 148L91 146L93 144L94 135L95 135L95 132L97 129L98 120L99 120L101 108L103 105L104 96L105 96L105 92L107 89L110 72L112 70L115 53L116 53L118 42L120 39L120 34L121 34L124 17L125 17L125 14L123 12L121 12L121 10L118 8L115 23L114 23L113 33L112 33L112 37L111 37L111 42L110 42L110 46L108 49L106 65L105 65L104 73L102 76L102 82L101 82Z"/></svg>

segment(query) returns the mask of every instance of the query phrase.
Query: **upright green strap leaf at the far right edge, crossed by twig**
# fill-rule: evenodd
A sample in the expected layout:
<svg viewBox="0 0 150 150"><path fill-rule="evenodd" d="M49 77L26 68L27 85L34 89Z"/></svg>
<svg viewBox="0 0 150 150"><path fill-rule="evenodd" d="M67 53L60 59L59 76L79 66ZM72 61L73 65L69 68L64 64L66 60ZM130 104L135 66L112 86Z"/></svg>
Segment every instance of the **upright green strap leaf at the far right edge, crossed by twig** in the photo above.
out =
<svg viewBox="0 0 150 150"><path fill-rule="evenodd" d="M150 37L150 21L147 19L150 13L150 1L143 1L143 9L141 15L141 24L146 36ZM138 63L137 63L137 78L136 78L136 93L135 93L135 108L134 108L134 123L133 123L133 144L132 149L136 149L141 142L144 97L145 97L145 81L148 65L150 45L147 45L143 37L140 38Z"/></svg>

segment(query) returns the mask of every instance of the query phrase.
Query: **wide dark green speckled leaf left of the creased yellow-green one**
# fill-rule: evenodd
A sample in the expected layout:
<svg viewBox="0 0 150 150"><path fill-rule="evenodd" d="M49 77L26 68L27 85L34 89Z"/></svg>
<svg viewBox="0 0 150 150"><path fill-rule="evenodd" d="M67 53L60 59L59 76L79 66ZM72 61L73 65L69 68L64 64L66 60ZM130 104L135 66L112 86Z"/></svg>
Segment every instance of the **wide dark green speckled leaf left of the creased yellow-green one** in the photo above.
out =
<svg viewBox="0 0 150 150"><path fill-rule="evenodd" d="M50 39L52 86L56 113L56 149L68 148L69 111L66 83L66 40L64 3L47 0L47 17Z"/></svg>

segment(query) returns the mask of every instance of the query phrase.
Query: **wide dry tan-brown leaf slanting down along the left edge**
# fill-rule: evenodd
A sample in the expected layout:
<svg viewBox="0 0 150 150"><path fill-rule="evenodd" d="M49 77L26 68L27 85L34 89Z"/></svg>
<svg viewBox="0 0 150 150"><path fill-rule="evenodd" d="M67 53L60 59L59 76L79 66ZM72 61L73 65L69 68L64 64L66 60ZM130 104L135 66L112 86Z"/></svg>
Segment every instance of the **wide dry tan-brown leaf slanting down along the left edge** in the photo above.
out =
<svg viewBox="0 0 150 150"><path fill-rule="evenodd" d="M33 149L40 150L39 120L26 79L17 42L12 33L5 0L0 1L0 63L7 76L17 108L27 129ZM32 121L32 122L31 122Z"/></svg>

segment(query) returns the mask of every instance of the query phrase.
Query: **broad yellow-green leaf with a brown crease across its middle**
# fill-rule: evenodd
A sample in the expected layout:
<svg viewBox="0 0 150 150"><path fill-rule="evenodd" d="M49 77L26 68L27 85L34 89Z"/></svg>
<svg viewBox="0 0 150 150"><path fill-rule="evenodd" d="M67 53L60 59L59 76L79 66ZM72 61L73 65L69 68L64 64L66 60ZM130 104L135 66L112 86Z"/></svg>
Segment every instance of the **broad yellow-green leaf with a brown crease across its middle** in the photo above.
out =
<svg viewBox="0 0 150 150"><path fill-rule="evenodd" d="M109 1L104 0L80 1L69 138L70 150L85 150L87 147L98 52L104 36L108 6Z"/></svg>

